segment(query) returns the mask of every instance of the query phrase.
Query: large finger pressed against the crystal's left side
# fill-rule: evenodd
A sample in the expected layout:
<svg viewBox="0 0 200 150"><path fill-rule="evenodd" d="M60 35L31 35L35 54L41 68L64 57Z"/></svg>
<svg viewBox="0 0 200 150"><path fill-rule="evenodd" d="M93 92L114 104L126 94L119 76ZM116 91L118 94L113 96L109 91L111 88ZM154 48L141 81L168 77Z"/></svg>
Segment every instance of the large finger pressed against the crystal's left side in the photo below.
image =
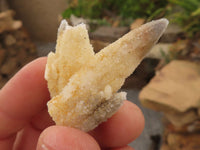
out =
<svg viewBox="0 0 200 150"><path fill-rule="evenodd" d="M29 63L0 91L0 139L16 133L46 107L45 65L46 58Z"/></svg>

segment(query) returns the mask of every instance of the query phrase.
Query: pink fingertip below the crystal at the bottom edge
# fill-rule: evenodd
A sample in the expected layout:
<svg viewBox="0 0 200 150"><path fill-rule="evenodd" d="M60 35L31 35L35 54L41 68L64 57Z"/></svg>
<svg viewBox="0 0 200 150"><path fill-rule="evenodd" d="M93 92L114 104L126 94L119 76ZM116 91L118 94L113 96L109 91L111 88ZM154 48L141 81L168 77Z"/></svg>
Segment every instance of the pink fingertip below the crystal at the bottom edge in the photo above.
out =
<svg viewBox="0 0 200 150"><path fill-rule="evenodd" d="M99 145L89 134L78 129L51 126L45 129L38 141L37 150L100 150Z"/></svg>

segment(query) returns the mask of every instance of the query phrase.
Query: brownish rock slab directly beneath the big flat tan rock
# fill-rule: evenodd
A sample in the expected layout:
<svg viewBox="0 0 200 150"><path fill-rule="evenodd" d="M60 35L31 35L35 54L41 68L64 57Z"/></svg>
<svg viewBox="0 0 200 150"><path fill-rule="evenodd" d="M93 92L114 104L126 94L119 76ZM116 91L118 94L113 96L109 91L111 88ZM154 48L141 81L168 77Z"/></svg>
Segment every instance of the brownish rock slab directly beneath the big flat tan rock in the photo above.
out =
<svg viewBox="0 0 200 150"><path fill-rule="evenodd" d="M175 126L181 127L192 123L193 121L199 119L199 116L195 110L189 110L185 113L165 113L165 117Z"/></svg>

